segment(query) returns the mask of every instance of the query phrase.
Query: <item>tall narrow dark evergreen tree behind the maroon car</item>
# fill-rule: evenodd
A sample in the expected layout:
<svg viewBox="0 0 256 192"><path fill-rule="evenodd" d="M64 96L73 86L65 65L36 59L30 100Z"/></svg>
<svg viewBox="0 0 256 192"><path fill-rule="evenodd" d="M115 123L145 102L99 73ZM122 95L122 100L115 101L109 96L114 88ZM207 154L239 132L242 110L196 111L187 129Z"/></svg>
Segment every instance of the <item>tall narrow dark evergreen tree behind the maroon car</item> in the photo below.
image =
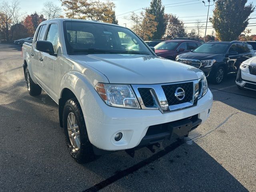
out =
<svg viewBox="0 0 256 192"><path fill-rule="evenodd" d="M168 22L168 18L164 16L162 0L151 0L150 8L147 9L147 12L155 16L154 21L157 23L152 39L161 39L164 36Z"/></svg>

